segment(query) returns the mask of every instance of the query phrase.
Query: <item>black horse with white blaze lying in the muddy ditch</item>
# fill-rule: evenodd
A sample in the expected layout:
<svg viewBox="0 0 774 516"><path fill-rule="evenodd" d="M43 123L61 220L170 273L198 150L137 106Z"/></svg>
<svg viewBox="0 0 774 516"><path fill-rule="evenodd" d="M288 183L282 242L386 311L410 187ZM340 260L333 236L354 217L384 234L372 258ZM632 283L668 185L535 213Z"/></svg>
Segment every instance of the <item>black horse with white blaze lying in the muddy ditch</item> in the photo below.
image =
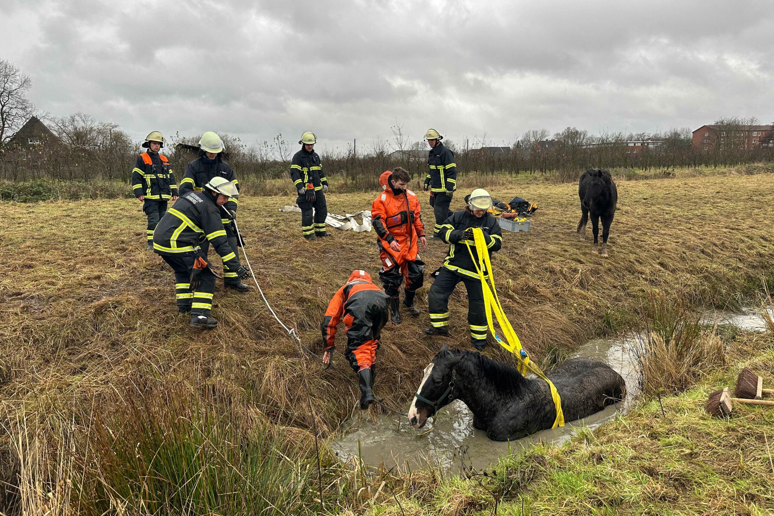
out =
<svg viewBox="0 0 774 516"><path fill-rule="evenodd" d="M548 371L546 377L562 398L566 422L620 402L625 392L621 375L591 358L570 358ZM480 353L450 350L447 344L425 367L416 392L421 398L414 396L409 408L414 428L422 428L427 418L454 399L471 409L473 426L485 430L495 441L521 439L550 429L557 416L546 381L525 378L515 367Z"/></svg>

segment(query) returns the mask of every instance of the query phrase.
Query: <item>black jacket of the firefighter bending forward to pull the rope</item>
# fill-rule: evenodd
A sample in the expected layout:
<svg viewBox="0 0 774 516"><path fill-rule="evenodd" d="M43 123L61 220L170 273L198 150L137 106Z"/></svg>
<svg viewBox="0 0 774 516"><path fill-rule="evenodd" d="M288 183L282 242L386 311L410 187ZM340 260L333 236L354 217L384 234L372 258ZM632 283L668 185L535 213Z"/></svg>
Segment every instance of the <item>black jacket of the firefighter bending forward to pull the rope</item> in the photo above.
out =
<svg viewBox="0 0 774 516"><path fill-rule="evenodd" d="M210 193L181 193L153 231L153 251L168 256L192 255L208 240L229 270L235 270L239 259L228 245L218 210Z"/></svg>

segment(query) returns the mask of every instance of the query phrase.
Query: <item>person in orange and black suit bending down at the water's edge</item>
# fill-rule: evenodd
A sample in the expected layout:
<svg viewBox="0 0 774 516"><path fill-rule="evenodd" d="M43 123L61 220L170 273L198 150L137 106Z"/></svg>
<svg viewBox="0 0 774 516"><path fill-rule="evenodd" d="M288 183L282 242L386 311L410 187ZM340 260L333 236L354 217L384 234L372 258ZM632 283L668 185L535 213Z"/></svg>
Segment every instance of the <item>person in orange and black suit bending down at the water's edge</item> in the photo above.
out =
<svg viewBox="0 0 774 516"><path fill-rule="evenodd" d="M330 364L336 329L342 316L347 332L347 351L344 355L360 379L360 408L365 409L374 401L372 388L376 378L376 350L388 318L387 295L374 285L368 272L353 271L347 283L330 299L320 324L325 347L323 364Z"/></svg>

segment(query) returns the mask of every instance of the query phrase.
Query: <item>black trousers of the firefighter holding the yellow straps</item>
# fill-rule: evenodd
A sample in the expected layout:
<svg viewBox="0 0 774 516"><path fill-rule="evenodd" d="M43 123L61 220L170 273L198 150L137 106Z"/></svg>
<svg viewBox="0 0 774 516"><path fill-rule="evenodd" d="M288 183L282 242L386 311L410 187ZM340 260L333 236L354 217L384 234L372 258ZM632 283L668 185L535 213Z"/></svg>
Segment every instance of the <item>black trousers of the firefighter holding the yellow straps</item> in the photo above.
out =
<svg viewBox="0 0 774 516"><path fill-rule="evenodd" d="M463 282L467 290L467 324L471 328L471 339L486 340L488 326L481 280L457 274L445 267L440 269L427 293L430 323L434 328L449 326L449 296L459 282Z"/></svg>

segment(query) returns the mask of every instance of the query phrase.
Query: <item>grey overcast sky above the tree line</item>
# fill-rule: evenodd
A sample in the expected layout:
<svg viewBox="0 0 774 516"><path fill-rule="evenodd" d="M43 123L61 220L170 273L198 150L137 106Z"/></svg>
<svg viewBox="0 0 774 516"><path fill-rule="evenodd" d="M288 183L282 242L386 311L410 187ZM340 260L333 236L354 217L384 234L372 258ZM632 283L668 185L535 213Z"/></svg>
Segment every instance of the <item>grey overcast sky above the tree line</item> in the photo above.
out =
<svg viewBox="0 0 774 516"><path fill-rule="evenodd" d="M774 119L771 2L0 0L42 111L245 142Z"/></svg>

